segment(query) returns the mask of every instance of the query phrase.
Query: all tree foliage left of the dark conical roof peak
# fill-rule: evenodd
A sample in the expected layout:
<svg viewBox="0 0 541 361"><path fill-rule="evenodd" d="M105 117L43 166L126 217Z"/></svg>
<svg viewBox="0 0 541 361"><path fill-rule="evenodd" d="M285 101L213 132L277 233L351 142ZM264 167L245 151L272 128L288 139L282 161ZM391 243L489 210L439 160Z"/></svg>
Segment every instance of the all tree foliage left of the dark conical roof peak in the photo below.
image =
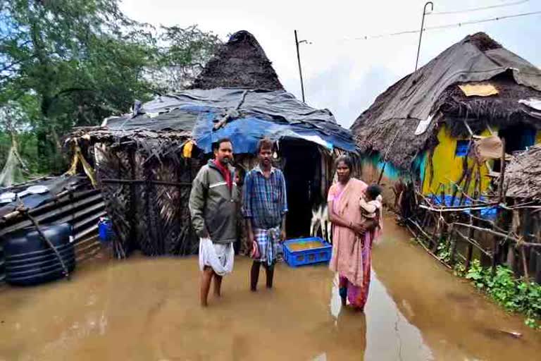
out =
<svg viewBox="0 0 541 361"><path fill-rule="evenodd" d="M217 44L197 26L156 30L130 20L118 0L0 0L0 110L24 115L0 117L0 131L33 133L36 152L26 160L65 171L61 142L73 126L99 125L135 99L179 90Z"/></svg>

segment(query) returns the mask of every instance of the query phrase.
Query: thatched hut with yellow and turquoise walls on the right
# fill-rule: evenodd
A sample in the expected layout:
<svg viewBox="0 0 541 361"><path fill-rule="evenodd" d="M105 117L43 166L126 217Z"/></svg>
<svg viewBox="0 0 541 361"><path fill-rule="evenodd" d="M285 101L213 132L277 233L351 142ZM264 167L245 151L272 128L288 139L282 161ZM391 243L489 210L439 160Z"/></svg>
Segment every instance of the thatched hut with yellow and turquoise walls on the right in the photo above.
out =
<svg viewBox="0 0 541 361"><path fill-rule="evenodd" d="M470 35L392 85L356 119L363 178L377 181L384 169L387 195L408 181L425 195L486 192L499 161L468 157L473 142L496 136L490 141L504 140L507 154L540 142L539 99L540 69L482 32Z"/></svg>

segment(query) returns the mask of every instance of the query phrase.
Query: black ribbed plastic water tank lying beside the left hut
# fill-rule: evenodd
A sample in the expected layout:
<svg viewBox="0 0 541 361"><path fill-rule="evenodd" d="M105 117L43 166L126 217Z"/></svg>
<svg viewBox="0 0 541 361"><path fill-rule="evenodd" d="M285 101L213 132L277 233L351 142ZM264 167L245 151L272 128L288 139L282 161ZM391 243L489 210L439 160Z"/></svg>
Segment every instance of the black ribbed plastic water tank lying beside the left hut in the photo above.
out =
<svg viewBox="0 0 541 361"><path fill-rule="evenodd" d="M70 243L70 224L40 226L60 253L68 271L75 269L75 250ZM63 269L55 252L35 227L23 228L4 235L6 282L27 286L63 277Z"/></svg>

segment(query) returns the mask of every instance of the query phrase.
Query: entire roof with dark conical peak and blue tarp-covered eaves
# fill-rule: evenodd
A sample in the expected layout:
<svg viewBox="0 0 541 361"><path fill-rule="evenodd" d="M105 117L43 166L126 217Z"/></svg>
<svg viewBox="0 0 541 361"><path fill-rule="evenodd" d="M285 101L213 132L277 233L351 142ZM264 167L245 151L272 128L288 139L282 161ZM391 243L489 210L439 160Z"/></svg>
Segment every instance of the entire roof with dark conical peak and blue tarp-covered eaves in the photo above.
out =
<svg viewBox="0 0 541 361"><path fill-rule="evenodd" d="M220 137L234 141L235 153L254 152L261 137L356 151L352 133L339 126L328 109L314 109L282 89L249 32L232 35L194 87L137 102L132 113L108 118L101 127L78 129L71 138L149 147L149 152L158 148L168 152L192 138L207 153Z"/></svg>

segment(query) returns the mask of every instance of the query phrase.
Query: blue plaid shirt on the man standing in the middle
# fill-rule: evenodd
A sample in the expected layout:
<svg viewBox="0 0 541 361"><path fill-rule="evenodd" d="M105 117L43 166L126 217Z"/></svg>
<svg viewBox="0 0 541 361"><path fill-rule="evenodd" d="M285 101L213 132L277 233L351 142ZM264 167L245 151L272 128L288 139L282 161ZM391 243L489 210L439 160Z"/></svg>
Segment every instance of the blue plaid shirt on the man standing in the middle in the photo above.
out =
<svg viewBox="0 0 541 361"><path fill-rule="evenodd" d="M279 226L287 213L284 174L273 167L267 179L259 165L256 166L244 178L243 198L244 217L251 219L252 226L263 229Z"/></svg>

